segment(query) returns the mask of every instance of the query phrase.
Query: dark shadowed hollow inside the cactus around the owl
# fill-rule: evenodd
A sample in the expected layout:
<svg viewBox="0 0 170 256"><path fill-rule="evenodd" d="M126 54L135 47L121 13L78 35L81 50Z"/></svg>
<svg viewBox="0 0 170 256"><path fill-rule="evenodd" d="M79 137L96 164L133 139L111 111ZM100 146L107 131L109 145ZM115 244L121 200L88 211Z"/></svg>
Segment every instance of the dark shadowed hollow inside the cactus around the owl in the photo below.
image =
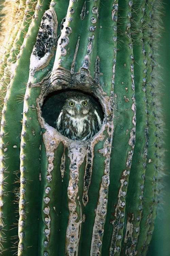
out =
<svg viewBox="0 0 170 256"><path fill-rule="evenodd" d="M82 94L82 97L83 96L88 97L90 102L92 102L92 105L94 106L92 108L92 110L90 111L90 116L89 116L88 120L92 119L92 115L95 113L95 110L96 110L101 119L101 122L103 122L104 113L103 113L103 109L102 109L102 106L101 106L99 100L96 97L94 97L88 93L85 93L84 91L77 90L77 89L54 91L54 92L50 93L45 98L43 106L42 106L42 115L45 119L45 122L48 123L50 126L56 128L56 120L58 119L58 116L60 115L60 113L63 109L66 99L69 98L70 96L75 96L80 93ZM69 126L69 128L70 128L70 126ZM65 135L65 134L63 134L63 135ZM65 136L67 136L67 135L65 135ZM67 137L69 137L69 136L67 136ZM73 138L73 139L74 140L82 140L81 138L78 138L78 139ZM83 139L83 140L86 140L86 139Z"/></svg>

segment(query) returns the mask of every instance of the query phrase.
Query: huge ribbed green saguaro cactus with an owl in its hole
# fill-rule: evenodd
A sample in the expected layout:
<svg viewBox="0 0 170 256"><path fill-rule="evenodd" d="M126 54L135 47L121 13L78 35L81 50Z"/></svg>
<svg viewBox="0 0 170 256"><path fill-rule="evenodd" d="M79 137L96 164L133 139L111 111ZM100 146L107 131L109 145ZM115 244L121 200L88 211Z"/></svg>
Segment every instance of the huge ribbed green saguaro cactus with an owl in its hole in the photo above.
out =
<svg viewBox="0 0 170 256"><path fill-rule="evenodd" d="M161 1L1 4L1 254L146 255L163 168ZM85 141L55 129L76 91L103 115Z"/></svg>

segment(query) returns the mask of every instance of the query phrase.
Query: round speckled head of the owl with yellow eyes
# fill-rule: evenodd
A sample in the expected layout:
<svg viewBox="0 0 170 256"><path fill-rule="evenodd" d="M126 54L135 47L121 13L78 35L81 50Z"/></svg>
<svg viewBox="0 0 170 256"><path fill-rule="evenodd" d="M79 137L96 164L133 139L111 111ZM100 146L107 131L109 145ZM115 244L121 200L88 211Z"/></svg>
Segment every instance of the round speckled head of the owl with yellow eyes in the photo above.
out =
<svg viewBox="0 0 170 256"><path fill-rule="evenodd" d="M93 109L89 96L76 94L66 99L63 110L66 110L73 117L83 117Z"/></svg>

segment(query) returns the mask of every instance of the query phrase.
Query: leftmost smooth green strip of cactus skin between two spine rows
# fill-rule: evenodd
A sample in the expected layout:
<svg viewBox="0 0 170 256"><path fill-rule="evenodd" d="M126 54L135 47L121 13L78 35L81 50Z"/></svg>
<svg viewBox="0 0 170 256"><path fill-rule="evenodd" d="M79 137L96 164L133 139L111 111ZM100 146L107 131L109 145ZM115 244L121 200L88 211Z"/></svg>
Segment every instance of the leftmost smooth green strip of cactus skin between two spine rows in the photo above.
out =
<svg viewBox="0 0 170 256"><path fill-rule="evenodd" d="M40 3L40 2L39 2ZM31 4L31 2L30 2ZM47 8L47 5L44 5ZM37 12L37 11L36 11ZM7 85L6 96L4 98L4 106L2 110L2 120L1 120L1 215L2 215L2 226L5 226L5 232L2 230L1 238L4 243L2 243L2 252L9 255L9 251L5 251L6 248L10 248L11 253L17 251L16 241L17 238L17 222L19 213L18 207L16 207L16 200L18 204L18 192L19 192L19 169L20 163L18 161L18 156L20 154L20 133L21 133L21 119L23 111L23 103L17 102L22 98L25 93L25 87L28 82L28 72L29 72L29 58L35 44L35 37L38 32L38 25L40 24L42 13L39 12L39 23L38 20L33 19L31 26L29 27L28 37L24 38L23 44L20 49L20 58L16 59L13 63L14 68L11 69L11 81ZM23 17L23 19L25 16ZM36 31L37 30L37 31ZM31 33L34 31L35 35ZM33 41L34 40L34 41ZM21 68L22 67L22 70ZM14 72L12 72L14 70ZM22 75L24 74L24 77ZM22 79L21 79L22 77ZM17 102L15 106L10 106L12 102ZM7 108L9 103L10 108ZM12 112L11 112L12 110ZM13 113L17 113L16 116ZM10 118L10 122L8 122ZM14 128L15 127L15 128ZM10 158L7 156L11 151ZM8 175L10 173L10 175ZM16 175L17 174L17 175ZM17 194L17 197L15 197ZM9 196L7 196L9 195ZM8 207L3 207L3 204L8 205ZM9 218L8 222L5 222L6 218ZM5 244L5 246L4 246ZM11 249L13 248L13 249Z"/></svg>

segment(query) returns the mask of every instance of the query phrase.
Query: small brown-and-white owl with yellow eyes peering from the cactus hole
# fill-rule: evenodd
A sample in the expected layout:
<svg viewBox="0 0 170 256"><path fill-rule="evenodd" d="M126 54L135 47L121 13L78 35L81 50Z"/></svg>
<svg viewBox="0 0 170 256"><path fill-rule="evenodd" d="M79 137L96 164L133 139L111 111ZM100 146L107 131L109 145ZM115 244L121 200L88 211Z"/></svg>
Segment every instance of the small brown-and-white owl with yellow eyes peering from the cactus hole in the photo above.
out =
<svg viewBox="0 0 170 256"><path fill-rule="evenodd" d="M88 140L100 129L100 111L92 97L75 93L65 100L56 129L72 140Z"/></svg>

